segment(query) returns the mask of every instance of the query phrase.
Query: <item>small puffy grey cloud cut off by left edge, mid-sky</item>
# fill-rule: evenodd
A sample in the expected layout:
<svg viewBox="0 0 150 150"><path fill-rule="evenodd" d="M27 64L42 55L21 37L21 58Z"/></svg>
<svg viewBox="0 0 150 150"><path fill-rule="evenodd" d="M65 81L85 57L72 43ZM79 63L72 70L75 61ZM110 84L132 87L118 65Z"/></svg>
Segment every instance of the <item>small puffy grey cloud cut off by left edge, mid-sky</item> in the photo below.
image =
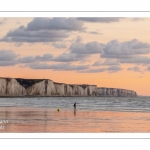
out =
<svg viewBox="0 0 150 150"><path fill-rule="evenodd" d="M12 50L0 50L0 61L11 61L18 57Z"/></svg>

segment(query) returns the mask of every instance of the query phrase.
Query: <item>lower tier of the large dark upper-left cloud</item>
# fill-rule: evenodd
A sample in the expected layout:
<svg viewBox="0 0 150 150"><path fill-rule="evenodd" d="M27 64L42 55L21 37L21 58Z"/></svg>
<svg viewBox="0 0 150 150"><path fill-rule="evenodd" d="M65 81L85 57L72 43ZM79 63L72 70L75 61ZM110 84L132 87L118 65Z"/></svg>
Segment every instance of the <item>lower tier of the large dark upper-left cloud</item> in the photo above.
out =
<svg viewBox="0 0 150 150"><path fill-rule="evenodd" d="M26 31L24 26L10 30L6 36L0 39L1 42L55 42L68 37L65 31Z"/></svg>

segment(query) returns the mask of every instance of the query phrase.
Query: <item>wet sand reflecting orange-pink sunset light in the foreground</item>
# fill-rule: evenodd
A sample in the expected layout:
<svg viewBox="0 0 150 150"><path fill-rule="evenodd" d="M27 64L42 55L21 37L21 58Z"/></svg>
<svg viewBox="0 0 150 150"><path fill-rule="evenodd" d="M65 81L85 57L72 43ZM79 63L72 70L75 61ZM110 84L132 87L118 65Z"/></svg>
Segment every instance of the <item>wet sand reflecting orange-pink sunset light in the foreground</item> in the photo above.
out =
<svg viewBox="0 0 150 150"><path fill-rule="evenodd" d="M150 132L149 112L0 107L0 132Z"/></svg>

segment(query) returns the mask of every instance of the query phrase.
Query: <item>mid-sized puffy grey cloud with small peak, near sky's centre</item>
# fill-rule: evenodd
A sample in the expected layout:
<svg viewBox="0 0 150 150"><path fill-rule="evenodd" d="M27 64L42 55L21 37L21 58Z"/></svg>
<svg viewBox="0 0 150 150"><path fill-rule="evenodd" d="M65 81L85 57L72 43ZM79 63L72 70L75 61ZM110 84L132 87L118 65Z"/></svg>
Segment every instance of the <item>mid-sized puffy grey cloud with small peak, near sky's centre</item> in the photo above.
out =
<svg viewBox="0 0 150 150"><path fill-rule="evenodd" d="M81 43L81 40L78 39L71 44L70 46L70 51L71 53L77 53L77 54L96 54L96 53L101 53L104 44L98 43L96 41L93 42L88 42L86 44Z"/></svg>

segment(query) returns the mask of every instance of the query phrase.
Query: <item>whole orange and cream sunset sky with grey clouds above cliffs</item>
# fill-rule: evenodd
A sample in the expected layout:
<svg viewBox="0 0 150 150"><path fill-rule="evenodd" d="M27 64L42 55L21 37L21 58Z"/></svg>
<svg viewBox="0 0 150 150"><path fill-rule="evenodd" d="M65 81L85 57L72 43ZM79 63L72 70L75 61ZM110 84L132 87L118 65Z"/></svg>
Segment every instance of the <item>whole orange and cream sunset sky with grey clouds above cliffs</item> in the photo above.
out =
<svg viewBox="0 0 150 150"><path fill-rule="evenodd" d="M0 76L150 95L150 18L0 18Z"/></svg>

